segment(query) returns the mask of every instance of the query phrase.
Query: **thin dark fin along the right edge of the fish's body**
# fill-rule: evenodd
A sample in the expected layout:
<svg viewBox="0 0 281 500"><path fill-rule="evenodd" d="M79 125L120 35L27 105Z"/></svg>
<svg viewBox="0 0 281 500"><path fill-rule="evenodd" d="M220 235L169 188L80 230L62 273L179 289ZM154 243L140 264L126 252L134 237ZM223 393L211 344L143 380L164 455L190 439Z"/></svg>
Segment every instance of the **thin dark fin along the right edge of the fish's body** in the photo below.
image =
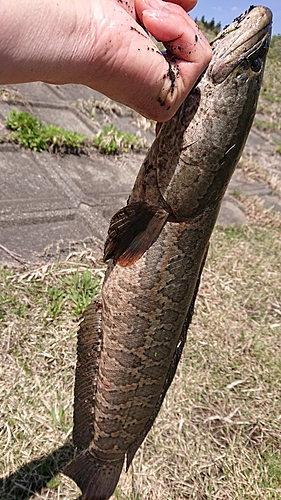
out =
<svg viewBox="0 0 281 500"><path fill-rule="evenodd" d="M187 312L187 315L186 315L186 318L185 318L185 321L184 321L184 324L183 324L183 328L182 328L182 331L181 331L181 336L179 338L178 345L177 345L177 348L175 350L174 357L173 357L173 359L171 361L170 368L169 368L169 371L167 373L167 377L166 377L163 389L161 391L161 394L159 396L157 404L156 404L156 406L154 408L154 411L151 414L149 420L147 421L145 427L143 428L142 432L138 435L137 439L135 439L135 441L129 446L129 448L127 450L127 453L126 453L126 455L127 455L126 471L128 471L128 468L130 467L130 465L132 463L132 460L133 460L136 452L138 451L140 445L142 444L142 442L144 441L144 439L147 436L148 432L150 431L150 429L151 429L151 427L152 427L152 425L153 425L153 423L154 423L154 421L155 421L155 419L156 419L156 417L157 417L157 415L159 413L161 405L162 405L162 403L164 401L164 398L166 396L167 390L169 389L169 387L170 387L170 385L171 385L171 383L173 381L174 375L176 373L176 369L177 369L177 366L179 364L179 361L180 361L180 358L181 358L181 355L182 355L182 351L183 351L183 348L184 348L184 345L185 345L187 331L188 331L189 325L190 325L191 320L192 320L192 316L193 316L193 312L194 312L194 305L195 305L197 293L198 293L199 286L200 286L201 274L202 274L202 271L203 271L203 268L204 268L204 265L205 265L205 262L206 262L208 248L209 248L209 244L208 244L208 246L206 247L206 250L205 250L205 254L204 254L204 257L203 257L203 260L202 260L202 263L201 263L201 267L200 267L200 271L199 271L199 274L198 274L196 286L195 286L195 289L194 289L192 301L191 301L191 304L189 306L189 309L188 309L188 312Z"/></svg>

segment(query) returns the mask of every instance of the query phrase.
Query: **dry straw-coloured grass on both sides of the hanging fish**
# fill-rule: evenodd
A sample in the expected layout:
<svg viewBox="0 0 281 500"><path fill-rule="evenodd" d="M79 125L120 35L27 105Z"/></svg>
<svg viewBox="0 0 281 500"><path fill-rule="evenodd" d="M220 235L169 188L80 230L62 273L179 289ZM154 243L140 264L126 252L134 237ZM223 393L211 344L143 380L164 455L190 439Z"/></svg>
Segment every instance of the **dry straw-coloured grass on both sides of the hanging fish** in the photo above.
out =
<svg viewBox="0 0 281 500"><path fill-rule="evenodd" d="M183 359L113 498L281 498L281 244L270 217L215 230ZM78 318L67 298L52 317L46 290L76 268L100 273L89 256L1 274L1 500L79 497L59 473L74 453Z"/></svg>

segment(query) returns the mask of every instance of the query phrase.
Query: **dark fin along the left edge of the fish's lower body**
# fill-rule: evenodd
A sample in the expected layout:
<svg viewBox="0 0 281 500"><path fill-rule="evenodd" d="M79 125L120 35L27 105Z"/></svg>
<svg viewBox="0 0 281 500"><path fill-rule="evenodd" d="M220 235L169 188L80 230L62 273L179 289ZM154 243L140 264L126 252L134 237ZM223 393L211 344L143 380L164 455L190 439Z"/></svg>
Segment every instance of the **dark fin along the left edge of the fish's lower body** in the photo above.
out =
<svg viewBox="0 0 281 500"><path fill-rule="evenodd" d="M97 300L84 311L78 331L73 443L79 447L92 439L100 349L101 301Z"/></svg>

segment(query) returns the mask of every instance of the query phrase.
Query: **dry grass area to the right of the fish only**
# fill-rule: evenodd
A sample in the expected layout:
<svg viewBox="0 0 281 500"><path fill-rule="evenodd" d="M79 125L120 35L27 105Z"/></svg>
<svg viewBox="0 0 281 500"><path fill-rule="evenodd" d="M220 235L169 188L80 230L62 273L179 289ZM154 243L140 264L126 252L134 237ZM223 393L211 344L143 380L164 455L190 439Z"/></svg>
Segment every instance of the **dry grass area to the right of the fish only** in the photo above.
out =
<svg viewBox="0 0 281 500"><path fill-rule="evenodd" d="M135 465L136 498L281 497L279 234L215 231L184 357Z"/></svg>

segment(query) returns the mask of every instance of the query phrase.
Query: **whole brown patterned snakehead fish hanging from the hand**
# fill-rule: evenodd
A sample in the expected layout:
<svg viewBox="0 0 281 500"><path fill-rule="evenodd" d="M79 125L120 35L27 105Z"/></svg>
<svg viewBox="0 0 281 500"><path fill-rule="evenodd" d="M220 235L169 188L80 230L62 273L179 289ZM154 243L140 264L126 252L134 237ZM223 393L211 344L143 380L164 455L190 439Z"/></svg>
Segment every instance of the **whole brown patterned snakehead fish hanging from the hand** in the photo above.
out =
<svg viewBox="0 0 281 500"><path fill-rule="evenodd" d="M272 14L251 7L212 43L207 70L161 130L110 224L101 300L78 333L73 441L64 470L107 500L175 374L222 197L256 110Z"/></svg>

